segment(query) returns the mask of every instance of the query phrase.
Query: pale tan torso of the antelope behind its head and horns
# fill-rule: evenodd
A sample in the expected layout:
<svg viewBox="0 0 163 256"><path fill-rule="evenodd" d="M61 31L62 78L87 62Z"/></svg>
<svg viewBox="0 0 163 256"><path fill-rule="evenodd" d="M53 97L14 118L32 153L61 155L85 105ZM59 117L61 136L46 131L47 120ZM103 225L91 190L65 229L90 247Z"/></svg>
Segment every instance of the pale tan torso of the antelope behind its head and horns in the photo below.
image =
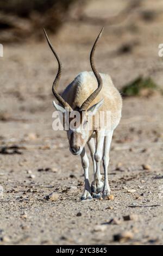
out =
<svg viewBox="0 0 163 256"><path fill-rule="evenodd" d="M114 130L121 119L122 98L118 90L112 83L111 77L100 74L103 80L103 87L90 107L104 99L100 111L111 112L111 130ZM97 88L97 80L93 72L81 72L66 87L62 93L63 99L73 108L80 107L87 97Z"/></svg>

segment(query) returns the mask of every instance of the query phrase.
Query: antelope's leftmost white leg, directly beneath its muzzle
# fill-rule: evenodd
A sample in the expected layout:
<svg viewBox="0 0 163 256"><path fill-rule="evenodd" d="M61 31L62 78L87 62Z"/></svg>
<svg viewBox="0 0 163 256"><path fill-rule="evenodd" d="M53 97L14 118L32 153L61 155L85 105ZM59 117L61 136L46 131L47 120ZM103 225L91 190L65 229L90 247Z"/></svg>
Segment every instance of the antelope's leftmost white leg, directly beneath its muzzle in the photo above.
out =
<svg viewBox="0 0 163 256"><path fill-rule="evenodd" d="M89 182L89 159L87 157L85 148L83 149L82 153L80 154L82 160L82 166L84 169L84 178L85 178L85 188L83 196L80 198L81 200L85 199L92 199L91 197L91 187Z"/></svg>

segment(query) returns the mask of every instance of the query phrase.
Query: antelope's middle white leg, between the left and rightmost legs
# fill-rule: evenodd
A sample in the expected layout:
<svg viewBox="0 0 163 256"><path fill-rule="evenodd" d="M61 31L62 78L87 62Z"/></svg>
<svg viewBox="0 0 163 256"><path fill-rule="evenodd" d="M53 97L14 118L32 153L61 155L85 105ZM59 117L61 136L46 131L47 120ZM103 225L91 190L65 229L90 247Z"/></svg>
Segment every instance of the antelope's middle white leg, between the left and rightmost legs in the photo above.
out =
<svg viewBox="0 0 163 256"><path fill-rule="evenodd" d="M96 161L96 173L91 184L91 191L93 198L101 198L100 192L103 190L103 182L101 181L102 175L100 173L100 163L103 154L104 130L96 132L96 140L96 152L94 156Z"/></svg>

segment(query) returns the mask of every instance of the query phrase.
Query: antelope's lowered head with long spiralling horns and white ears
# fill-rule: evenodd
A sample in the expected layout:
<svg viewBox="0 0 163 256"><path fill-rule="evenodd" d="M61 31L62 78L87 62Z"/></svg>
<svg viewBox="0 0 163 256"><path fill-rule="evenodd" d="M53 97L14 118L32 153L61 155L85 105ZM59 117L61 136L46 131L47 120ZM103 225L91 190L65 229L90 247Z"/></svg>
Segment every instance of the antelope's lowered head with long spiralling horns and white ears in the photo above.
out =
<svg viewBox="0 0 163 256"><path fill-rule="evenodd" d="M72 109L72 107L57 93L57 88L59 85L60 77L61 77L61 71L62 71L62 64L60 61L60 58L58 54L55 52L51 42L48 39L48 36L46 34L45 29L43 29L48 45L51 48L55 58L58 62L58 73L55 77L55 80L53 82L52 86L52 92L56 99L59 101L60 105L58 105L55 101L53 101L53 105L57 111L60 111L62 114L64 114L64 118L66 118L66 122L68 123L68 127L70 129L67 131L67 137L70 144L70 151L73 155L79 155L82 153L83 148L85 147L85 144L89 140L90 136L92 135L93 130L90 129L90 123L89 123L89 117L93 117L98 111L98 109L102 106L104 100L99 101L95 105L90 107L91 102L96 98L96 96L99 94L99 92L102 89L103 82L101 75L99 74L98 70L95 67L94 64L94 53L96 49L96 45L98 43L98 40L101 38L103 28L99 35L97 36L97 39L92 47L91 53L90 53L90 63L93 73L96 76L98 87L97 89L83 102L82 106L80 106L78 109ZM72 124L76 123L75 125Z"/></svg>

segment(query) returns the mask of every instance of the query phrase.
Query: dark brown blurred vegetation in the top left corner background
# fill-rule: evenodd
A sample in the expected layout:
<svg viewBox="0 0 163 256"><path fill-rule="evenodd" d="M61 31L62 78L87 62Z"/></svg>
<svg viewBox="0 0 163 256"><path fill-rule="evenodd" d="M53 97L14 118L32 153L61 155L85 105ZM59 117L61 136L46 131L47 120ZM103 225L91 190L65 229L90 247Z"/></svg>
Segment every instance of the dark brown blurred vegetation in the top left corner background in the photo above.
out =
<svg viewBox="0 0 163 256"><path fill-rule="evenodd" d="M69 15L73 4L85 0L1 0L1 42L22 41L30 35L42 38L42 28L56 33Z"/></svg>

